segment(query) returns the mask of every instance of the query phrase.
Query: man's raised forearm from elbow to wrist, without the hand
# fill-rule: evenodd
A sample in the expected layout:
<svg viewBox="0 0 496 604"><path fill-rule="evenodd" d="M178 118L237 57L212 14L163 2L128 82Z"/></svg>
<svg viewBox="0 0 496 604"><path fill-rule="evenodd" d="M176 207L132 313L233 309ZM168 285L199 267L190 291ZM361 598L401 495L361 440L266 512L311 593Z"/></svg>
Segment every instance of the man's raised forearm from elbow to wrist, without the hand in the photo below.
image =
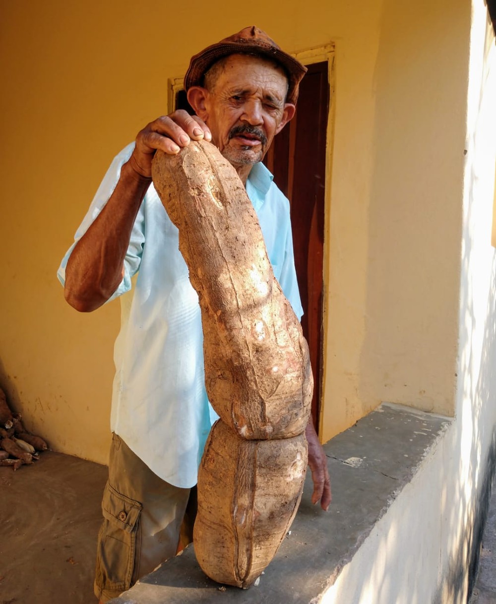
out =
<svg viewBox="0 0 496 604"><path fill-rule="evenodd" d="M109 201L72 250L65 299L76 310L97 309L120 284L131 231L151 180L126 162Z"/></svg>

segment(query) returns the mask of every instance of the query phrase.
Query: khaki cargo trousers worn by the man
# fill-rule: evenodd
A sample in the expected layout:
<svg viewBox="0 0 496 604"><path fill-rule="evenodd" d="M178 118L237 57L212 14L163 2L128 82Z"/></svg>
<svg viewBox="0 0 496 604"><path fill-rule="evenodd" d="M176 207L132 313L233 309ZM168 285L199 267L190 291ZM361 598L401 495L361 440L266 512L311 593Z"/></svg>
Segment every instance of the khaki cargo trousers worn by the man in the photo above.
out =
<svg viewBox="0 0 496 604"><path fill-rule="evenodd" d="M196 487L161 480L114 434L101 509L94 591L108 602L192 541Z"/></svg>

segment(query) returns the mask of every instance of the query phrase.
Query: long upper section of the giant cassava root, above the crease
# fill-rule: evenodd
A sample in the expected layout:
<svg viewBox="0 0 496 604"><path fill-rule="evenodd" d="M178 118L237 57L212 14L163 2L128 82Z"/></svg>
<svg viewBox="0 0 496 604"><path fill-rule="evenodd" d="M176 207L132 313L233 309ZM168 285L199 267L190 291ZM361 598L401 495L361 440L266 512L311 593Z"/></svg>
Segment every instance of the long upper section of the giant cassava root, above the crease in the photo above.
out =
<svg viewBox="0 0 496 604"><path fill-rule="evenodd" d="M213 144L192 141L177 155L156 152L152 177L198 292L213 408L245 439L301 434L313 391L308 345L236 170Z"/></svg>

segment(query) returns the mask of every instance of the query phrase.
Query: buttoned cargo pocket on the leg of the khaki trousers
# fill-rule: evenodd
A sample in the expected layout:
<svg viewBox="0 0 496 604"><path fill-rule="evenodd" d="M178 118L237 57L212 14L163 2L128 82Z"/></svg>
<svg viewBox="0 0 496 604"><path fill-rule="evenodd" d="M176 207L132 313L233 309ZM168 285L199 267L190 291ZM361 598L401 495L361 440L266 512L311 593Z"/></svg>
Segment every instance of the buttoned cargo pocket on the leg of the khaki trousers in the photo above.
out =
<svg viewBox="0 0 496 604"><path fill-rule="evenodd" d="M103 524L98 533L95 570L95 584L100 590L125 591L130 588L134 579L136 548L140 547L141 508L138 501L121 495L109 483L106 484L101 503ZM139 560L136 567L138 564Z"/></svg>

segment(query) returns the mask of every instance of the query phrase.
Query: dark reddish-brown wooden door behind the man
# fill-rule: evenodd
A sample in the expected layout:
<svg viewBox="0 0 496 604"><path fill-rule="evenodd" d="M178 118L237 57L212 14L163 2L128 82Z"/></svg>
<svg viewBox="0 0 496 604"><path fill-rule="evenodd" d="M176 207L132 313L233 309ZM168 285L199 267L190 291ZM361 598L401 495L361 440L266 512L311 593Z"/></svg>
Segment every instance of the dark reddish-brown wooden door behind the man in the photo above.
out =
<svg viewBox="0 0 496 604"><path fill-rule="evenodd" d="M323 349L324 187L329 82L327 61L308 66L295 117L277 135L264 162L291 204L295 266L314 373L312 419L318 429Z"/></svg>

